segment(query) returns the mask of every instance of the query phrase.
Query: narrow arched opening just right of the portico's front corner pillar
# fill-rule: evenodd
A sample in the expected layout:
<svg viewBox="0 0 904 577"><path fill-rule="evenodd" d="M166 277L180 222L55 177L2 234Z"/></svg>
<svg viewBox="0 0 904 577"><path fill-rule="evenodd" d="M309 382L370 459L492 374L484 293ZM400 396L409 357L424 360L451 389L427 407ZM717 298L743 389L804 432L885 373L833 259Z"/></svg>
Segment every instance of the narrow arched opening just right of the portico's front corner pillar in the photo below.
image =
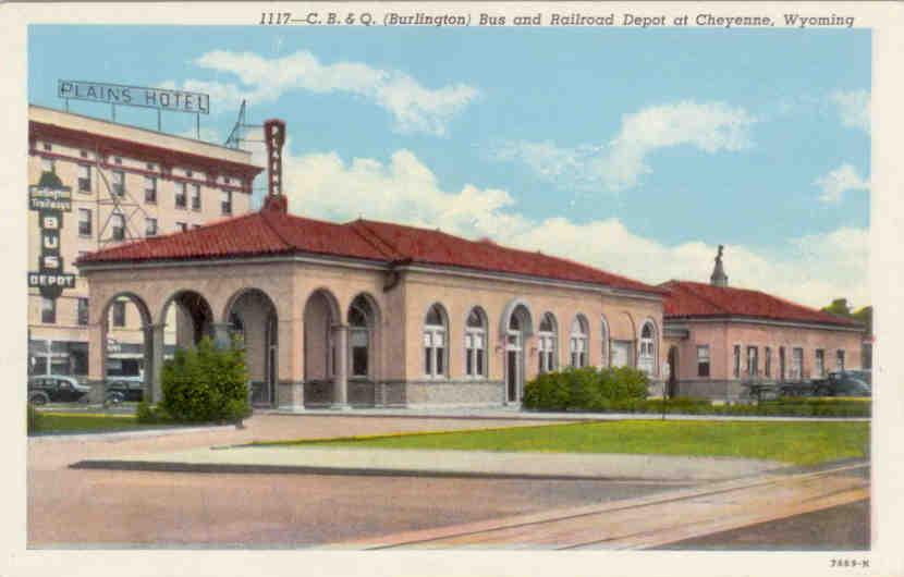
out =
<svg viewBox="0 0 904 577"><path fill-rule="evenodd" d="M326 288L311 293L304 310L305 405L328 406L337 396L334 328L339 320L332 293Z"/></svg>

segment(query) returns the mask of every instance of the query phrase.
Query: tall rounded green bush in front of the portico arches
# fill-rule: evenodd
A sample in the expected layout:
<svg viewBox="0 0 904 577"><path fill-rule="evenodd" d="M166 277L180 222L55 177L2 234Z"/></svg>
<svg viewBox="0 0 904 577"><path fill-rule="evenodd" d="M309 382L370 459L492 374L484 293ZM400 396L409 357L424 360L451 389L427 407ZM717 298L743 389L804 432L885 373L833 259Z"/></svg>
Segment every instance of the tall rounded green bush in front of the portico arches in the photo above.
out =
<svg viewBox="0 0 904 577"><path fill-rule="evenodd" d="M237 421L251 415L244 353L203 339L163 365L162 410L176 421Z"/></svg>

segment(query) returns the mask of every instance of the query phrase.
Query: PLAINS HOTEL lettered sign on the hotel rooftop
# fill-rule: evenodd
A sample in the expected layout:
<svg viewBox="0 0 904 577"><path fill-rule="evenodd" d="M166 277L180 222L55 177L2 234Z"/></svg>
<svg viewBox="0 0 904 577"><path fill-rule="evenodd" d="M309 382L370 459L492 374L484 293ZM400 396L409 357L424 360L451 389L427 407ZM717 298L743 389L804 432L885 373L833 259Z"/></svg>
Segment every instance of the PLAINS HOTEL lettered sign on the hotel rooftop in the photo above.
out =
<svg viewBox="0 0 904 577"><path fill-rule="evenodd" d="M173 112L210 113L210 96L201 93L125 86L84 81L57 81L57 96L105 105L156 108Z"/></svg>

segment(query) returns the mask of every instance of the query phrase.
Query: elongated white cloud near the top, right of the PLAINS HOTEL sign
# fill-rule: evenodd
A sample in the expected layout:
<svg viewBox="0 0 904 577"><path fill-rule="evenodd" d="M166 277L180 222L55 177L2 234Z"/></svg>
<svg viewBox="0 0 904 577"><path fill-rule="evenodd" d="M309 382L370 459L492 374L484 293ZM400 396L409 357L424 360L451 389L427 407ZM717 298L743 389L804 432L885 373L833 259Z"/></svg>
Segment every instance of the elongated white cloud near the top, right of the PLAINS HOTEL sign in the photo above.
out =
<svg viewBox="0 0 904 577"><path fill-rule="evenodd" d="M442 136L449 122L478 96L477 88L452 84L427 88L396 70L380 70L358 62L323 64L307 51L265 59L252 52L216 50L195 60L203 69L237 76L239 84L188 79L182 89L208 93L215 102L237 106L247 99L271 102L291 90L346 93L389 111L395 130ZM166 83L163 87L175 87Z"/></svg>

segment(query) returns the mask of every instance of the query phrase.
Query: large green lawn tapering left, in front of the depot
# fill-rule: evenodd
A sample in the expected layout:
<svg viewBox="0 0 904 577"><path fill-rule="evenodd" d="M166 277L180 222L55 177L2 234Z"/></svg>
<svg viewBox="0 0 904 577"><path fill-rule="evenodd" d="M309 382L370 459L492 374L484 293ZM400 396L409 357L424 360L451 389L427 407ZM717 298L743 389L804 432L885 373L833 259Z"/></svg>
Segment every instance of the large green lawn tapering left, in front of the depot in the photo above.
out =
<svg viewBox="0 0 904 577"><path fill-rule="evenodd" d="M625 420L274 444L726 456L815 465L866 456L869 423Z"/></svg>

